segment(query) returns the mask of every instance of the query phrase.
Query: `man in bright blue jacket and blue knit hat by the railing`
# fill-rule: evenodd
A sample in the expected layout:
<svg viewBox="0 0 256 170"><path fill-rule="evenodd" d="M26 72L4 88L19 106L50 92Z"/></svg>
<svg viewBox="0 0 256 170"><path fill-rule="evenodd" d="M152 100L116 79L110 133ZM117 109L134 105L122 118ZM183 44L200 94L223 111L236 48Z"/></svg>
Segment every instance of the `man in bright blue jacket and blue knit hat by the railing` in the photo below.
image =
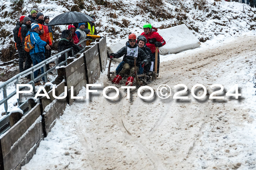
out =
<svg viewBox="0 0 256 170"><path fill-rule="evenodd" d="M33 66L37 65L38 63L41 63L45 60L45 48L47 50L50 50L50 46L41 38L39 37L39 25L38 24L31 24L31 30L27 33L27 35L30 35L30 41L34 45L34 48L30 50L30 56L33 61ZM38 70L34 71L34 78L37 77ZM44 73L44 67L41 68L41 74ZM44 77L42 78L45 82Z"/></svg>

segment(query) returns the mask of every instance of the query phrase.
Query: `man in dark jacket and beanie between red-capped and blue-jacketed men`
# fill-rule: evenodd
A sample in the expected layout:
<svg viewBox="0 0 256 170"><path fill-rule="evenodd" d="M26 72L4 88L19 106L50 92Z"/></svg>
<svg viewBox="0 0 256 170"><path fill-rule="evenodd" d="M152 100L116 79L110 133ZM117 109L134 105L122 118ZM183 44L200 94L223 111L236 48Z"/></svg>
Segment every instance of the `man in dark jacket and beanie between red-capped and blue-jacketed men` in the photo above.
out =
<svg viewBox="0 0 256 170"><path fill-rule="evenodd" d="M24 71L29 69L31 67L32 64L32 59L29 55L29 52L26 52L24 50L24 43L25 43L25 37L27 35L27 32L29 32L29 30L31 29L31 19L29 17L24 17L23 19L23 24L21 25L21 37L22 37L22 49L23 49L23 55L24 55L24 59L26 59L25 62L25 67L24 67ZM30 78L30 75L28 76L28 78Z"/></svg>

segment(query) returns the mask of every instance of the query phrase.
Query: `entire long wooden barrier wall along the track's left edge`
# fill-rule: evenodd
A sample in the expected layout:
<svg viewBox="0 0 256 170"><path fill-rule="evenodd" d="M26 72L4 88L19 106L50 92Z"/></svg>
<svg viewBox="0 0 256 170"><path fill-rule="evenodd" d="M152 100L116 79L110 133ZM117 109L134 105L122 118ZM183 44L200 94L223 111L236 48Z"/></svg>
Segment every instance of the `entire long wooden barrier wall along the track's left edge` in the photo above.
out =
<svg viewBox="0 0 256 170"><path fill-rule="evenodd" d="M71 86L74 87L74 96L76 96L87 83L95 83L101 71L105 70L106 60L106 37L104 37L81 57L74 59L62 69L61 76L64 80L62 82L60 80L55 94L64 95L64 87L67 86L67 97L55 99L53 90L50 90L48 92L50 99L46 96L39 98L38 104L0 136L0 170L20 169L29 162L39 142L48 135L67 104L71 105L74 102L74 99L71 99Z"/></svg>

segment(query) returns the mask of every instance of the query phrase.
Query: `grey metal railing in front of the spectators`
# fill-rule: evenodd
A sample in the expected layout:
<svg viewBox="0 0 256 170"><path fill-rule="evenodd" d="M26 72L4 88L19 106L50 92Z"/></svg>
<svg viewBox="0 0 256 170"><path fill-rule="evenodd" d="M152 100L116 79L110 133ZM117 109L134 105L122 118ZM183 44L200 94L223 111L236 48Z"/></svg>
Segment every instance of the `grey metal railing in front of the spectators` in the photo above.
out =
<svg viewBox="0 0 256 170"><path fill-rule="evenodd" d="M87 40L90 40L90 39L85 39L85 40L79 42L76 45L80 45L81 43L85 43ZM82 48L82 50L80 50L78 54L80 54L83 51L85 51L85 49L86 49L86 47ZM45 79L45 82L47 82L48 81L47 80L47 74L49 74L49 72L53 71L58 66L62 66L64 64L67 64L68 52L70 50L72 51L72 56L74 56L74 51L73 51L72 47L68 48L67 50L64 50L64 51L62 51L62 52L60 52L58 54L55 54L52 57L42 61L41 63L38 63L37 65L35 65L35 66L33 66L33 67L31 67L31 68L29 68L29 69L27 69L27 70L17 74L15 76L13 76L11 79L7 80L6 82L4 82L3 84L0 85L0 92L3 91L3 99L0 100L0 106L2 104L4 104L4 110L5 110L7 115L8 115L8 112L7 112L8 111L8 100L11 99L14 95L16 95L16 89L14 91L12 91L9 95L7 95L7 88L8 88L8 86L10 86L10 85L12 85L14 83L15 83L15 85L19 84L19 79L21 79L21 78L23 78L23 77L25 77L25 76L30 74L31 81L26 83L26 84L32 84L33 91L35 92L35 82L37 82L39 79L41 79L43 77ZM59 57L62 54L64 54L64 53L65 53L65 60L63 62L61 62L61 63L58 63ZM55 66L50 68L49 70L46 70L46 64L49 64L50 62L53 62L53 61L55 61L55 63L56 63ZM37 76L36 78L34 78L34 71L39 70L41 67L44 68L44 73L39 75L39 76ZM57 72L57 70L56 70L56 72ZM58 72L57 72L57 74L58 74ZM51 81L51 83L53 83L53 82L54 82L54 80ZM22 90L24 88L25 87L20 87L19 90ZM17 102L19 103L18 107L22 107L24 104L26 104L26 101L27 100L25 100L22 104L20 104L20 96L19 96L19 98L17 99ZM1 122L1 120L0 120L0 122Z"/></svg>

